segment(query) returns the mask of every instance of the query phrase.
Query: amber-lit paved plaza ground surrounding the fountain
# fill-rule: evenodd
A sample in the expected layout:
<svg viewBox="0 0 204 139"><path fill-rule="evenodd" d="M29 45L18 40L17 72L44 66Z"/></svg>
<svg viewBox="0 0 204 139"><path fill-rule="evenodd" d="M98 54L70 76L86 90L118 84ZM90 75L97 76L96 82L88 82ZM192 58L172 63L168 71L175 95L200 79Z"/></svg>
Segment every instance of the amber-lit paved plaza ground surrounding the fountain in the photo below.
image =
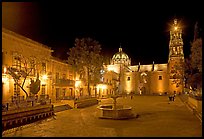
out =
<svg viewBox="0 0 204 139"><path fill-rule="evenodd" d="M101 104L111 103L103 99ZM56 113L55 118L11 129L3 137L201 137L202 123L176 97L134 96L118 98L118 104L132 107L138 118L99 119L97 105Z"/></svg>

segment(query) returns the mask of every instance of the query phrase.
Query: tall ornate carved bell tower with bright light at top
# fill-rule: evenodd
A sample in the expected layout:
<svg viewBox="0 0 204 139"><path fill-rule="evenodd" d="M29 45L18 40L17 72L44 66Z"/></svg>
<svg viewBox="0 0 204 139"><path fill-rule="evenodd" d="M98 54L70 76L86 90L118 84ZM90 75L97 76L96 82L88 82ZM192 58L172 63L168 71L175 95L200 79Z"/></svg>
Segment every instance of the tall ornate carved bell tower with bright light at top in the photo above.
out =
<svg viewBox="0 0 204 139"><path fill-rule="evenodd" d="M184 87L184 53L182 29L177 19L174 19L170 30L168 75L169 93L182 93Z"/></svg>

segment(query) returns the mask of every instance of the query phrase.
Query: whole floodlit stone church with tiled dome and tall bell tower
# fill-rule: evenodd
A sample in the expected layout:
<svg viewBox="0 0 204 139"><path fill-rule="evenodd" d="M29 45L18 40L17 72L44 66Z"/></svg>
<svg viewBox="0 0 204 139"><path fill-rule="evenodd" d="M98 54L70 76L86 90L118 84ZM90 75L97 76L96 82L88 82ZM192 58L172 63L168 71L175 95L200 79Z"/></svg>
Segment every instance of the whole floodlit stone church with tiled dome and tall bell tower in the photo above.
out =
<svg viewBox="0 0 204 139"><path fill-rule="evenodd" d="M118 74L119 94L179 94L184 88L184 53L182 30L175 19L170 31L168 62L162 64L131 65L122 48L113 55L107 71Z"/></svg>

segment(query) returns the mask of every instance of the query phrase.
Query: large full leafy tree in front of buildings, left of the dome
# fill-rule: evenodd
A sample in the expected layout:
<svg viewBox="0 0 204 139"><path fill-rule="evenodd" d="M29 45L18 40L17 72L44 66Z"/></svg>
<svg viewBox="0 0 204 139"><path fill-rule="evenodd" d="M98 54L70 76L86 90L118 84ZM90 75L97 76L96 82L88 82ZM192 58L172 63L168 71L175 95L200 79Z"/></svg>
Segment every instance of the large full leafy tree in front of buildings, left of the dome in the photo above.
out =
<svg viewBox="0 0 204 139"><path fill-rule="evenodd" d="M87 84L90 94L90 83L96 85L100 79L100 70L103 67L103 57L100 55L101 45L92 38L75 39L75 47L69 49L68 64L72 65L76 73Z"/></svg>

